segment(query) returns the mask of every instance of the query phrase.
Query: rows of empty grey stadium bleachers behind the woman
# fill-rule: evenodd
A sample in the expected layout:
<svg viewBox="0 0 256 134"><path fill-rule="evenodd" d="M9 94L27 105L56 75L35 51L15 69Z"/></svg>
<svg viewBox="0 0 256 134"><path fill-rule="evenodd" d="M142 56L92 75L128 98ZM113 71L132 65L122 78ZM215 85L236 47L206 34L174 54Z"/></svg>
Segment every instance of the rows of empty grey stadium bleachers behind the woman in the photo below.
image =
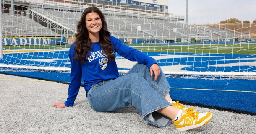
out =
<svg viewBox="0 0 256 134"><path fill-rule="evenodd" d="M74 37L82 12L29 7L23 15L3 14L3 36ZM219 27L188 25L151 15L104 12L108 29L118 38L233 38L238 35ZM6 21L5 21L6 20Z"/></svg>

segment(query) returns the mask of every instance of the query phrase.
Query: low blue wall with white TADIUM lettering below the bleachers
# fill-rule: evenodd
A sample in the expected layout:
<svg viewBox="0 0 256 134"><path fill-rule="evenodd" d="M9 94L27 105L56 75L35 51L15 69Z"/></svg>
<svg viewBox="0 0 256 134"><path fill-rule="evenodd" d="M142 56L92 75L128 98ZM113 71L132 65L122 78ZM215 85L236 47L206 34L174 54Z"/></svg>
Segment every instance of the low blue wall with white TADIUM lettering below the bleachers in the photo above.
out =
<svg viewBox="0 0 256 134"><path fill-rule="evenodd" d="M151 44L151 43L233 43L233 42L256 42L256 39L195 39L195 38L119 38L124 44ZM18 38L18 37L3 37L3 46L8 45L56 45L56 44L72 44L74 38Z"/></svg>

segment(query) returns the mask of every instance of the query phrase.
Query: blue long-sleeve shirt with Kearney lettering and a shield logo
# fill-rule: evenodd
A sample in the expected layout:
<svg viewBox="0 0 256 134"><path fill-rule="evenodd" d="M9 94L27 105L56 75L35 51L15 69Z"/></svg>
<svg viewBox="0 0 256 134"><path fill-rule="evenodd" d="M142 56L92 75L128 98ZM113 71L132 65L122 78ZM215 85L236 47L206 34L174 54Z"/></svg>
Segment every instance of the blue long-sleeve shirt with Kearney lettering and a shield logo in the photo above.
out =
<svg viewBox="0 0 256 134"><path fill-rule="evenodd" d="M115 52L128 60L146 64L148 68L150 68L152 64L157 64L155 59L152 57L149 57L147 54L144 54L134 48L126 46L119 39L113 36L110 36L110 41L115 47ZM92 47L88 52L89 57L86 59L86 64L82 64L80 60L77 60L76 62L76 60L73 59L76 55L74 46L75 43L71 45L68 54L71 62L71 83L68 88L68 98L67 101L65 101L66 106L74 105L82 78L84 80L84 88L87 93L91 85L97 84L103 80L116 79L119 77L118 67L115 60L110 62L106 55L102 54L102 47L99 42L92 43Z"/></svg>

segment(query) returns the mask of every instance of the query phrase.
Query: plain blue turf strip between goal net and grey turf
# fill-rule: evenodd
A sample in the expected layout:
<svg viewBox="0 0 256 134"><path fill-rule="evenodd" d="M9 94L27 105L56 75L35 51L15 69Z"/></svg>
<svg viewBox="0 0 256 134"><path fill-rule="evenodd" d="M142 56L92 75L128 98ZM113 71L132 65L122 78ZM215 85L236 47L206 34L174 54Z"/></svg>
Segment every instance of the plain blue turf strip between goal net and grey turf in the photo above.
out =
<svg viewBox="0 0 256 134"><path fill-rule="evenodd" d="M0 73L40 80L70 82L70 73L5 71ZM256 115L256 80L193 78L167 78L167 80L171 86L170 96L173 100L180 101L180 103Z"/></svg>

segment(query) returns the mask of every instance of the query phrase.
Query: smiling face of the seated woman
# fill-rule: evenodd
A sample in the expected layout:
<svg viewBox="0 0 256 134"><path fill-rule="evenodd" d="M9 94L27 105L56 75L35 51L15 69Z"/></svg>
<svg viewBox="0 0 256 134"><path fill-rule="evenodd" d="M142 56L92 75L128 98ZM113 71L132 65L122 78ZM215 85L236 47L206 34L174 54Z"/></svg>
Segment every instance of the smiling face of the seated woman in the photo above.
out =
<svg viewBox="0 0 256 134"><path fill-rule="evenodd" d="M102 28L102 21L98 13L88 13L85 17L85 25L89 36L99 36L99 31Z"/></svg>

